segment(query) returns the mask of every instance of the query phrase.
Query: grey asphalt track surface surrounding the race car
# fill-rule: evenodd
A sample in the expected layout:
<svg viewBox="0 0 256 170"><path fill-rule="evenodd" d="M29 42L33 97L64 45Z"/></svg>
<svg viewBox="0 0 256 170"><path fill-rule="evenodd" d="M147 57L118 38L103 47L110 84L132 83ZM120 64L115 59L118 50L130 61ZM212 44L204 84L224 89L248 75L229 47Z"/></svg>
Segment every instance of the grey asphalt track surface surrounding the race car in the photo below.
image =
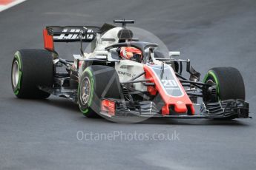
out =
<svg viewBox="0 0 256 170"><path fill-rule="evenodd" d="M255 169L256 1L39 1L0 13L0 169ZM46 25L101 25L136 19L180 50L194 67L240 69L253 119L168 120L136 124L84 118L77 106L51 96L19 100L10 85L13 53L42 48ZM71 51L74 49L73 51ZM78 53L66 46L64 54ZM178 133L176 140L79 141L93 133Z"/></svg>

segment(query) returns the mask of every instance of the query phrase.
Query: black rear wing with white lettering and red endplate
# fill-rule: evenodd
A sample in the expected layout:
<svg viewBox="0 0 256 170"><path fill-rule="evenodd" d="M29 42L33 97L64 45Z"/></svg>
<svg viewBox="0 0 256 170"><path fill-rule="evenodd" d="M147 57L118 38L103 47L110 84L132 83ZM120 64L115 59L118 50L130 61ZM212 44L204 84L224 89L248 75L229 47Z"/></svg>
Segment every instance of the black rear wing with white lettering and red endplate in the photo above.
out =
<svg viewBox="0 0 256 170"><path fill-rule="evenodd" d="M103 24L96 26L47 26L43 30L46 50L54 51L54 42L91 42L97 33L105 33L116 26Z"/></svg>

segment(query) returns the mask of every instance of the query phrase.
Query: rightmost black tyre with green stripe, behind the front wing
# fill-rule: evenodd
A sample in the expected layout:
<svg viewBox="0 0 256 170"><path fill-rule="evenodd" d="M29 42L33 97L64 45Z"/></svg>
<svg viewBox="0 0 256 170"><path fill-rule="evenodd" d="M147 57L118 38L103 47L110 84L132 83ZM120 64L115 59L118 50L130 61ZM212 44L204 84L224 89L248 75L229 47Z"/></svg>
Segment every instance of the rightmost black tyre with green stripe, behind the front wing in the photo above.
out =
<svg viewBox="0 0 256 170"><path fill-rule="evenodd" d="M209 69L204 82L216 84L217 101L228 99L241 99L244 101L246 98L243 77L234 67L215 67Z"/></svg>

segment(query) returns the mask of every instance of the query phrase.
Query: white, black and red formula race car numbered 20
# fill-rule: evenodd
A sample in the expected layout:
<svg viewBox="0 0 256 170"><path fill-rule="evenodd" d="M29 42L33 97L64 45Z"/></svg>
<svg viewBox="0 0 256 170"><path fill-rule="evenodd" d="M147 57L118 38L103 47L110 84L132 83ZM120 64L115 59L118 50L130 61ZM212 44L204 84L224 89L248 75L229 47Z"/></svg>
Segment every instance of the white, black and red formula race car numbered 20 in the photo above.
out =
<svg viewBox="0 0 256 170"><path fill-rule="evenodd" d="M122 27L46 27L45 50L23 49L14 55L14 94L64 97L78 103L89 118L249 118L237 69L215 67L200 81L190 60L176 59L180 52L165 52L156 41L135 37L133 29L126 27L134 20L114 23ZM53 43L58 41L80 42L81 54L73 55L73 61L60 58ZM82 47L85 42L90 43L88 52ZM185 65L188 78L183 75Z"/></svg>

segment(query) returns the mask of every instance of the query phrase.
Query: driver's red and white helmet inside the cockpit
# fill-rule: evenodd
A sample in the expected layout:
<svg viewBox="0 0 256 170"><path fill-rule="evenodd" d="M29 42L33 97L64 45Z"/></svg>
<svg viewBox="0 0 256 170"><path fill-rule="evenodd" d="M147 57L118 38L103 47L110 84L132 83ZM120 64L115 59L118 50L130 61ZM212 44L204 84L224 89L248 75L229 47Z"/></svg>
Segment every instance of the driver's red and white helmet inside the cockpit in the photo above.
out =
<svg viewBox="0 0 256 170"><path fill-rule="evenodd" d="M120 57L122 59L142 62L142 51L134 47L120 47Z"/></svg>

